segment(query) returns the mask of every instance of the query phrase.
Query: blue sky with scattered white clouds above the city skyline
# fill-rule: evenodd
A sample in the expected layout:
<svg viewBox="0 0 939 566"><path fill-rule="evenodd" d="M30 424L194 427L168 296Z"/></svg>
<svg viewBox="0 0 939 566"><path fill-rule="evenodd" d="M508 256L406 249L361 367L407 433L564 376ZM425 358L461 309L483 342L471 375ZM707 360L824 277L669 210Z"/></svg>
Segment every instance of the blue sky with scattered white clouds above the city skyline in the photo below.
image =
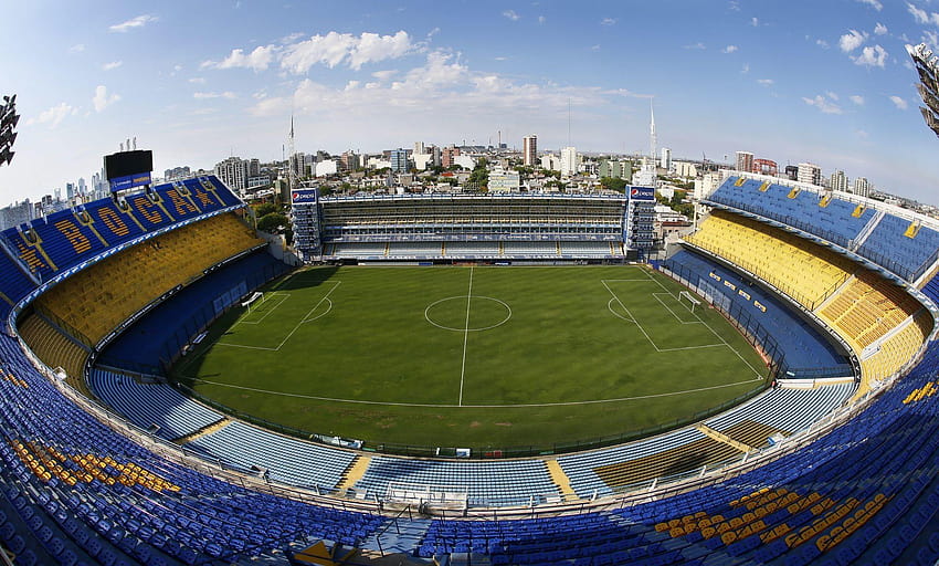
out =
<svg viewBox="0 0 939 566"><path fill-rule="evenodd" d="M91 180L127 138L157 175L414 142L812 161L939 205L904 49L939 0L8 2L22 119L0 206Z"/></svg>

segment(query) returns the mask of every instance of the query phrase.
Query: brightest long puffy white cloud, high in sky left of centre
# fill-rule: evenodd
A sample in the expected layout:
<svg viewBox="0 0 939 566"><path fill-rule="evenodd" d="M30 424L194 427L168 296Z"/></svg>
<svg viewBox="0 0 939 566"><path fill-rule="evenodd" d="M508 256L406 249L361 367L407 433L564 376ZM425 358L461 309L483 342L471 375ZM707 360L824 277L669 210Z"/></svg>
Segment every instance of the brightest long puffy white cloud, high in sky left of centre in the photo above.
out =
<svg viewBox="0 0 939 566"><path fill-rule="evenodd" d="M323 63L333 69L347 63L358 71L366 63L403 56L416 48L405 31L394 35L350 33L330 31L326 35L313 35L308 40L287 45L281 56L281 67L294 74L304 74L309 67Z"/></svg>

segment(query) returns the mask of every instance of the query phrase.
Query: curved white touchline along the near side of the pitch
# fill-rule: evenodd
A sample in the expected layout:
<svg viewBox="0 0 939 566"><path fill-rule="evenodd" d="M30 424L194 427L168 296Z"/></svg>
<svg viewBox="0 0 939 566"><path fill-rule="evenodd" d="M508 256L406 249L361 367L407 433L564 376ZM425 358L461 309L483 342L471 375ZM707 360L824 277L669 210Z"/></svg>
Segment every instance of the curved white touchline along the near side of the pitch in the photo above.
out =
<svg viewBox="0 0 939 566"><path fill-rule="evenodd" d="M272 389L261 389L257 387L247 387L243 385L234 385L234 384L222 384L220 381L212 381L210 379L199 379L192 378L193 381L198 381L200 384L214 385L218 387L228 387L230 389L240 389L243 391L252 391L256 394L265 394L265 395L276 395L279 397L293 397L297 399L310 399L315 401L328 401L328 402L347 402L352 405L372 405L372 406L387 406L387 407L426 407L434 409L524 409L524 408L538 408L538 407L570 407L578 405L601 405L601 403L610 403L610 402L626 402L626 401L640 401L643 399L657 399L661 397L676 397L680 395L692 395L701 391L711 391L714 389L725 389L727 387L736 387L738 385L747 385L752 384L753 381L761 381L761 377L757 377L756 379L747 379L743 381L735 381L732 384L722 384L722 385L713 385L709 387L698 387L695 389L683 389L680 391L666 391L663 394L650 394L650 395L636 395L633 397L616 397L612 399L589 399L585 401L560 401L560 402L526 402L526 403L517 403L517 405L452 405L452 403L430 403L430 402L394 402L394 401L372 401L368 399L341 399L337 397L320 397L316 395L304 395L304 394L292 394L287 391L275 391Z"/></svg>

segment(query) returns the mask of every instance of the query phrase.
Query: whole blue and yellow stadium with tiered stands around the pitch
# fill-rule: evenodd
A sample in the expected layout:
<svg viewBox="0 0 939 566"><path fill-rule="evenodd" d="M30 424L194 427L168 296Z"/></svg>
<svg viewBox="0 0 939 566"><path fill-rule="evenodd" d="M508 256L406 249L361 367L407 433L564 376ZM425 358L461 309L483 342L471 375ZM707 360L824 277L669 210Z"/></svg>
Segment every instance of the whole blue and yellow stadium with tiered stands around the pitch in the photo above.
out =
<svg viewBox="0 0 939 566"><path fill-rule="evenodd" d="M647 255L648 187L604 197L295 191L297 248L317 265L298 268L259 238L246 205L218 178L143 186L0 237L0 542L8 562L933 564L939 557L939 222L932 218L728 170L704 197L709 213L698 229L660 260ZM536 279L524 279L529 273ZM431 276L458 284L450 290ZM498 277L507 277L502 287ZM572 292L538 289L567 283ZM595 296L581 293L603 284ZM509 297L519 286L524 293ZM303 293L309 294L293 305ZM574 365L553 389L475 399L470 389L464 407L463 378L492 371L466 374L467 359L472 369L488 358L502 367L531 357L523 353L539 319L526 323L525 312L574 304L578 293L593 306L573 308L578 316L568 324L615 324L614 342L594 354L589 345L551 352L560 343L548 340L546 359L532 363ZM413 307L405 295L416 298ZM374 296L387 310L344 314ZM451 313L432 308L451 298L437 307ZM647 305L654 310L642 311ZM583 316L594 306L602 318ZM407 326L405 311L423 318ZM475 326L473 313L483 318ZM420 367L399 370L394 360L413 353L392 359L400 348L379 349L378 340L298 338L292 364L302 365L260 374L284 357L294 336L315 335L319 326L340 336L373 328L378 318L366 314L393 319L382 327L389 335L436 333L428 334L435 338L425 356L453 352L447 359L455 363L462 352L455 407L434 397L431 377L392 381ZM496 334L523 323L528 326L511 338ZM719 342L682 342L697 339L694 334L663 342L675 338L675 328ZM544 331L551 332L561 331ZM579 345L610 335L572 334L585 336ZM630 336L645 349L624 345ZM502 340L509 340L508 352L499 350ZM471 355L471 344L482 354ZM650 348L693 358L664 374ZM274 354L223 355L241 349ZM711 349L726 357L713 358ZM633 357L615 357L620 350ZM369 387L344 373L370 356L391 381L366 376L372 389L387 387L380 401L369 390L355 397ZM726 361L735 356L741 366ZM286 401L277 405L283 415L276 407L263 418L252 413L260 405L249 391L283 385L274 381L306 371L318 357L325 371L310 374L316 386L330 386L326 379L336 374L330 387L344 387L348 397L321 389L303 406L325 413L319 422L335 430L286 422ZM611 421L610 412L637 410L618 409L629 394L600 379L608 357L611 371L635 371L660 387L629 400L653 407L651 413L672 411L667 419L612 422L585 438L577 423L590 412ZM253 385L205 387L242 365ZM727 376L717 375L720 367ZM530 384L548 373L536 369L525 377L524 366L513 366L507 375ZM678 399L689 398L684 394L694 384L662 382L683 374L697 389L729 392L683 406ZM597 397L591 384L612 397ZM488 443L455 433L386 442L394 429L347 432L348 422L384 421L372 401L400 406L405 388L412 398L422 386L421 403L486 409L496 413L495 424L515 406L574 398L569 405L588 408L566 413L570 438L535 443L528 439L539 431L558 434L546 423L559 417L530 421L532 437L523 447L490 434ZM238 395L220 392L239 387ZM661 398L674 402L654 405ZM239 399L245 405L235 406ZM368 409L329 412L342 403ZM402 417L399 429L428 427L426 415L413 417L421 403L399 411L412 417ZM338 413L350 420L338 421Z"/></svg>

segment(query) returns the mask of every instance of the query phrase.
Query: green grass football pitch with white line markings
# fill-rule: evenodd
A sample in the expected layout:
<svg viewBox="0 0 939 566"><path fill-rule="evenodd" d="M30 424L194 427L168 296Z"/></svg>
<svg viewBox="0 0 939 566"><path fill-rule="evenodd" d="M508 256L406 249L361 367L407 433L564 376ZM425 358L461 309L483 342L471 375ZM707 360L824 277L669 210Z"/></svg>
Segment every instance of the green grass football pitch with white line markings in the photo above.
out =
<svg viewBox="0 0 939 566"><path fill-rule="evenodd" d="M315 268L210 329L173 376L279 424L371 443L550 447L764 386L717 312L641 266Z"/></svg>

